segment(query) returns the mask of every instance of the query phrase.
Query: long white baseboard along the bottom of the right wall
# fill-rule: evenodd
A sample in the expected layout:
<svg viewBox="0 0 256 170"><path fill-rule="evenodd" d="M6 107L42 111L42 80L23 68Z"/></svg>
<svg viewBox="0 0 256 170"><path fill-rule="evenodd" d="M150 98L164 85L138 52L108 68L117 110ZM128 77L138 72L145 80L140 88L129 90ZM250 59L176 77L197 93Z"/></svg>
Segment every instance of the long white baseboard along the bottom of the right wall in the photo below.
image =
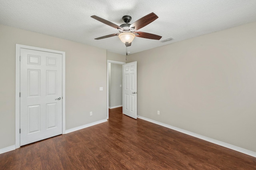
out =
<svg viewBox="0 0 256 170"><path fill-rule="evenodd" d="M212 138L208 138L208 137L206 137L206 136L202 136L202 135L200 135L200 134L196 134L196 133L193 133L193 132L190 132L190 131L187 131L187 130L183 130L183 129L181 129L181 128L173 127L173 126L171 126L171 125L166 125L166 124L164 124L164 123L161 123L161 122L158 122L158 121L154 121L154 120L148 119L148 118L146 118L146 117L142 117L142 116L139 116L139 115L138 115L137 117L138 117L139 119L143 119L143 120L145 120L145 121L148 121L148 122L151 122L151 123L155 123L155 124L157 124L157 125L160 125L160 126L163 126L163 127L166 127L166 128L170 128L170 129L172 129L172 130L176 130L176 131L178 131L178 132L182 132L182 133L184 133L184 134L188 134L188 135L190 135L190 136L194 136L194 137L196 137L196 138L200 138L200 139L202 139L202 140L206 140L206 141L208 141L208 142L211 142L211 143L214 143L214 144L218 144L218 145L223 146L223 147L225 147L225 148L229 148L229 149L232 149L232 150L236 150L236 151L238 151L238 152L241 152L241 153L243 153L243 154L247 154L247 155L250 155L250 156L253 156L253 157L256 158L256 152L253 152L253 151L250 151L250 150L246 150L246 149L244 149L244 148L240 148L240 147L234 146L234 145L232 145L232 144L228 144L228 143L225 143L225 142L221 142L221 141L219 141L219 140L215 140L215 139L212 139Z"/></svg>

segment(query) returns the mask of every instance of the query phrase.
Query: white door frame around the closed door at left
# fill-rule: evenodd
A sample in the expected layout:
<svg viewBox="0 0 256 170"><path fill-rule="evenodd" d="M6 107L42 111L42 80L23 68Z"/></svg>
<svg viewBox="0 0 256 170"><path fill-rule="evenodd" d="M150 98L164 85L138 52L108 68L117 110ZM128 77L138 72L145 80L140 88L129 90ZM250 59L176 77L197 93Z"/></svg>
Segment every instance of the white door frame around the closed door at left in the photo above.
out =
<svg viewBox="0 0 256 170"><path fill-rule="evenodd" d="M20 148L20 49L32 49L50 53L62 54L62 134L65 134L65 52L28 45L16 44L16 71L15 71L15 149Z"/></svg>

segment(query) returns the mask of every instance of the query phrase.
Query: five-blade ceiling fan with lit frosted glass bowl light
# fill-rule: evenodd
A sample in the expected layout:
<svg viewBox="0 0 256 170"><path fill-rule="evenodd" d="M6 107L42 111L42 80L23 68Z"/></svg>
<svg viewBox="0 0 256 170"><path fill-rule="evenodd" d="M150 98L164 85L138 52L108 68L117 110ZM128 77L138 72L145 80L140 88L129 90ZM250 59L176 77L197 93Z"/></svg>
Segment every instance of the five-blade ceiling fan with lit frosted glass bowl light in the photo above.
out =
<svg viewBox="0 0 256 170"><path fill-rule="evenodd" d="M100 18L98 16L91 16L92 18L94 18L95 20L98 20L104 24L107 24L113 28L118 29L119 33L116 34L110 34L107 36L103 36L103 37L99 37L99 38L95 38L95 40L100 40L103 38L109 38L109 37L113 37L113 36L118 36L120 38L120 40L125 43L126 47L130 46L132 44L132 40L134 39L134 37L140 37L140 38L148 38L148 39L152 39L152 40L160 40L162 38L162 36L158 36L155 34L150 34L147 32L139 32L137 30L139 30L140 28L143 28L144 26L150 24L151 22L153 22L154 20L156 20L158 18L158 16L156 14L154 14L154 12L140 18L139 20L135 21L133 24L128 24L131 20L132 17L131 16L123 16L123 21L126 24L122 24L120 26L109 22L107 20L104 20L103 18Z"/></svg>

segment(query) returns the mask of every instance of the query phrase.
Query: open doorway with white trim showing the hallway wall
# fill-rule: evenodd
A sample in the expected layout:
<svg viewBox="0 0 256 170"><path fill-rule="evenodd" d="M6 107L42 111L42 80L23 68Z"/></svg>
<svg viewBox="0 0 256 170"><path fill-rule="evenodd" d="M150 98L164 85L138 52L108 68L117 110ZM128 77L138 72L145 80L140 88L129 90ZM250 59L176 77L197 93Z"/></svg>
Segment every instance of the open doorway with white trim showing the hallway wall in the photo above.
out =
<svg viewBox="0 0 256 170"><path fill-rule="evenodd" d="M122 107L122 65L124 62L107 61L107 119L108 109Z"/></svg>

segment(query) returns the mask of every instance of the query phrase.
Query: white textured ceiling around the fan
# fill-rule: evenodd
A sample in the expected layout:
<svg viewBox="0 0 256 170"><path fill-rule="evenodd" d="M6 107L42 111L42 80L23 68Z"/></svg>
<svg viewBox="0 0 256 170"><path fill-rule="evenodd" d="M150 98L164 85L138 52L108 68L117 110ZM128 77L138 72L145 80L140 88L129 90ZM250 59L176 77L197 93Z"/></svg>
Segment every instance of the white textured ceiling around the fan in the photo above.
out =
<svg viewBox="0 0 256 170"><path fill-rule="evenodd" d="M124 55L126 47L118 36L94 40L118 30L90 16L121 25L124 15L132 16L132 24L151 12L159 18L139 31L174 40L135 37L130 53L256 22L256 0L0 0L0 24Z"/></svg>

